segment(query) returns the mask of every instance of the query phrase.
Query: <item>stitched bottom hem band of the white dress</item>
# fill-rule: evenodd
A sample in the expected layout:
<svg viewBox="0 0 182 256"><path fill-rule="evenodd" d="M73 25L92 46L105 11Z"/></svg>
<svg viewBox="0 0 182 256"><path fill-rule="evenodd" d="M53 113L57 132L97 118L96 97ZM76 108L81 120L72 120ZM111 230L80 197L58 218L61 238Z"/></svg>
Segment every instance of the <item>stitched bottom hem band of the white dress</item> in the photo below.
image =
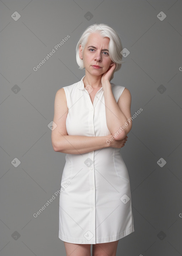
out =
<svg viewBox="0 0 182 256"><path fill-rule="evenodd" d="M125 236L128 236L129 234L131 234L133 232L134 232L134 225L132 225L129 229L124 230L119 235L99 237L96 239L96 241L95 241L95 239L91 239L90 241L85 241L86 239L63 236L63 235L61 235L61 232L59 231L59 239L64 242L68 242L68 243L72 243L72 244L102 244L102 243L117 241L119 239L122 239Z"/></svg>

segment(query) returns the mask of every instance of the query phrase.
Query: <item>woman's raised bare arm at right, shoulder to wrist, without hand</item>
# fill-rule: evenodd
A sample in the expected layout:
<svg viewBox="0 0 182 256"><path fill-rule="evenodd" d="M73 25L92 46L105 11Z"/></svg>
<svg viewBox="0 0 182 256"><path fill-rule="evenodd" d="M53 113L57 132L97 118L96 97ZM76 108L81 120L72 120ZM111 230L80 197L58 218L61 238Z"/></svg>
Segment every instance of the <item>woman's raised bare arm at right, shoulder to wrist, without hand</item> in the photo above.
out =
<svg viewBox="0 0 182 256"><path fill-rule="evenodd" d="M116 102L110 82L104 81L102 87L105 97L107 127L115 140L122 140L132 129L130 91L125 88Z"/></svg>

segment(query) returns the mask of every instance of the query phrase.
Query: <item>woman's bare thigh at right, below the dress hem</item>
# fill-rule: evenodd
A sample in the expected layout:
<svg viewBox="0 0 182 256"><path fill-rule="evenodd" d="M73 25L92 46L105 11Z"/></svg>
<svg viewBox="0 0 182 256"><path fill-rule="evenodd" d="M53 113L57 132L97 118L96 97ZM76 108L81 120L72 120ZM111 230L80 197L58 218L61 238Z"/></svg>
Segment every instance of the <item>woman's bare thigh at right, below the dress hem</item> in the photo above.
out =
<svg viewBox="0 0 182 256"><path fill-rule="evenodd" d="M92 256L116 256L118 241L92 245Z"/></svg>

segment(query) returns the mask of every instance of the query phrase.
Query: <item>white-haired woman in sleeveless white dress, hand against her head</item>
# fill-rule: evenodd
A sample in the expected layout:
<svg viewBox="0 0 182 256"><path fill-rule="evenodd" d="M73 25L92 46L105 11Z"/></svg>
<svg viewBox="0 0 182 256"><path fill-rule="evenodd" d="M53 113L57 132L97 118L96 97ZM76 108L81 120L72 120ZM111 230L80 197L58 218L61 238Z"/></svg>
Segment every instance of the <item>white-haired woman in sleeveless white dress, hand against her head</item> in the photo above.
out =
<svg viewBox="0 0 182 256"><path fill-rule="evenodd" d="M110 83L121 68L117 32L93 24L76 46L85 76L55 95L52 145L66 153L59 198L59 238L66 255L116 255L134 232L130 182L120 154L132 128L131 95ZM122 83L121 83L122 84Z"/></svg>

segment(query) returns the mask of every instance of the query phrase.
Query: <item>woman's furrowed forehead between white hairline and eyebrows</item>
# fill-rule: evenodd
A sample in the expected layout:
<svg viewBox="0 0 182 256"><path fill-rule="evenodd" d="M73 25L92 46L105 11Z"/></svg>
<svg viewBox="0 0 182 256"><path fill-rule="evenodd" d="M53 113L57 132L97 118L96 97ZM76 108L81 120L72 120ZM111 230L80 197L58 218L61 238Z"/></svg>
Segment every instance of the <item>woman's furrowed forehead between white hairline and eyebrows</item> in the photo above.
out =
<svg viewBox="0 0 182 256"><path fill-rule="evenodd" d="M88 37L86 45L93 45L96 47L99 46L108 46L109 45L109 37L102 37L99 33L91 33Z"/></svg>

